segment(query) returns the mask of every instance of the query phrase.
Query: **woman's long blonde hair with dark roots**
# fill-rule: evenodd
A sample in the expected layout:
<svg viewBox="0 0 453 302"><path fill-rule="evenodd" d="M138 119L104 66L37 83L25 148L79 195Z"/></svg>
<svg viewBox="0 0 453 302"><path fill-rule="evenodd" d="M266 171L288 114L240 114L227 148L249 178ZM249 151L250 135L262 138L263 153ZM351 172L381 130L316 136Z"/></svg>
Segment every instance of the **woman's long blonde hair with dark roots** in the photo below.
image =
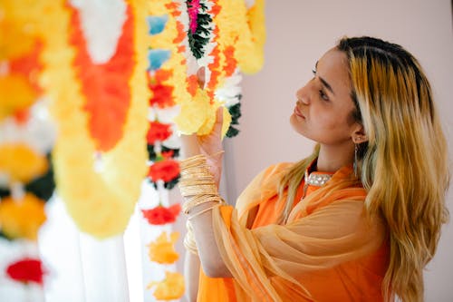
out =
<svg viewBox="0 0 453 302"><path fill-rule="evenodd" d="M365 207L387 224L390 263L384 297L423 300L423 268L433 258L440 229L448 220L448 148L418 61L398 44L371 37L342 38L348 58L357 122L368 136L359 168L368 190ZM286 206L302 180L307 161L294 164L280 182ZM289 206L288 206L289 204Z"/></svg>

